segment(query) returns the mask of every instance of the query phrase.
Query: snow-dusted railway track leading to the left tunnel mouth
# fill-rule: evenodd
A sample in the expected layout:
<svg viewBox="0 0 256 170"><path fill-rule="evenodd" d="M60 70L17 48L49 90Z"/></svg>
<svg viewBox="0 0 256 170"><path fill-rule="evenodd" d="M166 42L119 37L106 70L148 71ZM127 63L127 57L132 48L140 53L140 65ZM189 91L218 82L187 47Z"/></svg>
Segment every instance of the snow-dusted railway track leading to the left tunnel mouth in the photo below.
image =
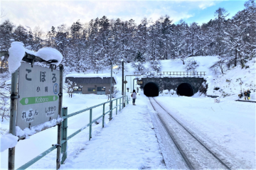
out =
<svg viewBox="0 0 256 170"><path fill-rule="evenodd" d="M164 128L173 140L183 161L188 169L230 169L217 155L206 145L198 140L184 125L182 125L171 113L166 111L153 97L149 101Z"/></svg>

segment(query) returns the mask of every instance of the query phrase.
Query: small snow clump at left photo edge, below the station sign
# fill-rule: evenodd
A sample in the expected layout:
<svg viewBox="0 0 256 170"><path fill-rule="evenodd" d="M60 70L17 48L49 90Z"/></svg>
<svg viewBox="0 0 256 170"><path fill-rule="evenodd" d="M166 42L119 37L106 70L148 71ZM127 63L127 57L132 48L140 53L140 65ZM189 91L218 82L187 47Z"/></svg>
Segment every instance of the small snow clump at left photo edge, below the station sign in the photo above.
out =
<svg viewBox="0 0 256 170"><path fill-rule="evenodd" d="M18 137L12 135L11 133L8 133L6 135L1 135L0 141L1 141L1 152L3 152L8 148L15 147L18 142Z"/></svg>

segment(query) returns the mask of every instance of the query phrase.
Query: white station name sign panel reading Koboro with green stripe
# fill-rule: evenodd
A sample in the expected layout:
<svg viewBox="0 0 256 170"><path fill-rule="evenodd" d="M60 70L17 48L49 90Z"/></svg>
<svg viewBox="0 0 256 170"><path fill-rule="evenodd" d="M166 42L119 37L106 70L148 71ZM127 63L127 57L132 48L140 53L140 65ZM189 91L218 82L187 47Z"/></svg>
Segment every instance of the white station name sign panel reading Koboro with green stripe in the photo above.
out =
<svg viewBox="0 0 256 170"><path fill-rule="evenodd" d="M60 71L22 62L16 125L31 128L58 118Z"/></svg>

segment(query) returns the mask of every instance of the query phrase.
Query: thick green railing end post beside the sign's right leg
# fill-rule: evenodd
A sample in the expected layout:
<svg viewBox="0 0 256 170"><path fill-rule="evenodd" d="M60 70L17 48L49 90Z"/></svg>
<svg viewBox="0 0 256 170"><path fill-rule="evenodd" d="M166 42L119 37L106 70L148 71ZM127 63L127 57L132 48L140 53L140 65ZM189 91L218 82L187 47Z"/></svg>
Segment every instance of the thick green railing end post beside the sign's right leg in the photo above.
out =
<svg viewBox="0 0 256 170"><path fill-rule="evenodd" d="M62 108L62 117L68 116L68 108ZM61 125L61 140L65 140L65 142L61 145L61 153L63 154L60 164L64 164L65 159L67 158L67 146L68 146L68 118L63 120Z"/></svg>

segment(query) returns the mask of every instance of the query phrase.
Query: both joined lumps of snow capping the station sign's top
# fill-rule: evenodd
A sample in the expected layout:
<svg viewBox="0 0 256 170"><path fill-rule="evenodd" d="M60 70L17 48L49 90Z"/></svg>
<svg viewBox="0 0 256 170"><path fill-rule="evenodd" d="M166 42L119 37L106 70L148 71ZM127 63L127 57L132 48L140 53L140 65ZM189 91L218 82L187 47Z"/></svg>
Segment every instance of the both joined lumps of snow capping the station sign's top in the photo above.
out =
<svg viewBox="0 0 256 170"><path fill-rule="evenodd" d="M51 47L44 47L38 50L38 52L33 52L23 47L24 44L22 42L11 42L11 47L9 48L9 72L12 74L21 66L21 60L23 59L25 52L31 55L36 55L37 57L41 57L41 59L50 61L57 60L58 62L53 62L53 64L60 64L63 60L63 55L60 54L58 50L55 50Z"/></svg>

